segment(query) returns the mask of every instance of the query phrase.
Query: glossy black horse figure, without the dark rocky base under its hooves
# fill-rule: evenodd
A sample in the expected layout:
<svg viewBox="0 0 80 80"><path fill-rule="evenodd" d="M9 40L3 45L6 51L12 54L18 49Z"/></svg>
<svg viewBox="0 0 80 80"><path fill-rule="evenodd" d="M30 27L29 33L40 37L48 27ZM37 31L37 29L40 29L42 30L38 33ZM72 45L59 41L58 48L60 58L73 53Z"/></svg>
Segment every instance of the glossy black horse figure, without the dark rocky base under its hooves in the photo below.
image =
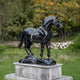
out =
<svg viewBox="0 0 80 80"><path fill-rule="evenodd" d="M44 19L42 25L38 29L34 29L34 28L24 29L24 31L20 33L20 44L18 45L18 47L20 48L24 42L25 44L24 48L26 52L28 53L28 56L30 56L30 55L34 55L30 49L32 43L39 42L41 43L41 54L40 54L41 60L44 60L43 58L44 45L46 45L47 47L47 52L48 52L47 56L50 60L51 59L50 58L50 43L51 43L52 25L58 28L62 28L62 24L59 21L59 19L57 17L51 16L51 17L47 17L46 19Z"/></svg>

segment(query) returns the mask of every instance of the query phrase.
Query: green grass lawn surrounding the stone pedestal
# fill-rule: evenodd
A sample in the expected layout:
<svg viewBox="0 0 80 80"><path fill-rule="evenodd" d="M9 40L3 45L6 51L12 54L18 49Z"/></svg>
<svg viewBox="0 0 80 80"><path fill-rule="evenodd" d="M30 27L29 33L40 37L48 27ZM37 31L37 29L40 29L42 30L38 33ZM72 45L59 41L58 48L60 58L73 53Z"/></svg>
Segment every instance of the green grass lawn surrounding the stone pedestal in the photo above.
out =
<svg viewBox="0 0 80 80"><path fill-rule="evenodd" d="M32 48L35 56L40 58L40 48ZM80 51L72 52L69 49L54 50L51 49L51 57L57 63L63 64L63 75L69 75L74 80L80 80ZM44 57L47 57L46 48L44 50ZM4 80L6 74L14 73L15 66L13 62L18 62L20 59L27 56L26 51L17 47L0 46L0 80Z"/></svg>

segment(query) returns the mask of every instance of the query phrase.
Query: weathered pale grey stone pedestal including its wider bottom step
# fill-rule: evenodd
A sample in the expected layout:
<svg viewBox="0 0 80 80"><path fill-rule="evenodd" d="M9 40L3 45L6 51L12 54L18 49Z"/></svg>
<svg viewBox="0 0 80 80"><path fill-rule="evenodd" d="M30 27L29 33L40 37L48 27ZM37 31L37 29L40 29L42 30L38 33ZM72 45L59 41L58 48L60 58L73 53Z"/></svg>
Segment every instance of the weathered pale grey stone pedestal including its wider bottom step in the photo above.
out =
<svg viewBox="0 0 80 80"><path fill-rule="evenodd" d="M62 64L43 66L36 64L15 64L15 74L5 76L7 80L73 80L70 76L62 76Z"/></svg>

